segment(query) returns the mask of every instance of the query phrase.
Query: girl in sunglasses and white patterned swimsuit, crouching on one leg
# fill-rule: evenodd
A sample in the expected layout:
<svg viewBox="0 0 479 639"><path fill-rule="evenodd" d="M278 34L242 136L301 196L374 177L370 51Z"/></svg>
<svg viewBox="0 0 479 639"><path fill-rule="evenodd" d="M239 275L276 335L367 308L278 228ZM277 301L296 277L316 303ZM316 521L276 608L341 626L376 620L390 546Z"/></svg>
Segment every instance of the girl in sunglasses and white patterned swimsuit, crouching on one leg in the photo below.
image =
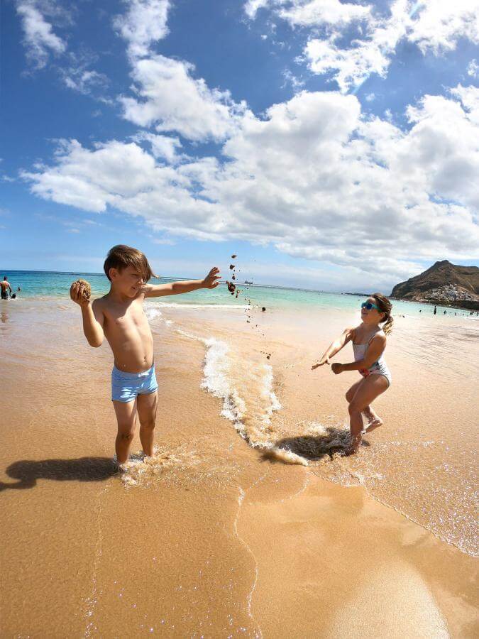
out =
<svg viewBox="0 0 479 639"><path fill-rule="evenodd" d="M351 445L346 449L346 454L355 453L361 443L363 432L371 432L375 428L382 426L382 420L370 404L381 393L389 388L391 383L391 373L386 366L382 356L386 348L386 335L392 329L392 304L380 293L370 295L361 304L362 322L356 328L347 328L341 337L325 351L317 364L312 366L318 368L323 364L330 364L330 359L336 355L343 346L352 342L354 351L354 361L351 364L338 364L335 362L331 370L335 375L343 371L359 371L362 378L353 383L353 386L346 393L346 400L349 404ZM381 328L380 324L385 322ZM363 431L363 417L368 420L368 426Z"/></svg>

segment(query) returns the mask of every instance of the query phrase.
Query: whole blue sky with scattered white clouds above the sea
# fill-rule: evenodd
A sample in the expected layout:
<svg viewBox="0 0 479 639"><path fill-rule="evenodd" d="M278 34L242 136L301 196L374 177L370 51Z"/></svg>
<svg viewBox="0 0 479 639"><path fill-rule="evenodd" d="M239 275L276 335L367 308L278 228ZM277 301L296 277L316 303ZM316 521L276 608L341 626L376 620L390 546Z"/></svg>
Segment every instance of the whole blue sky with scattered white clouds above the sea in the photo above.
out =
<svg viewBox="0 0 479 639"><path fill-rule="evenodd" d="M4 0L1 44L6 272L479 263L479 0Z"/></svg>

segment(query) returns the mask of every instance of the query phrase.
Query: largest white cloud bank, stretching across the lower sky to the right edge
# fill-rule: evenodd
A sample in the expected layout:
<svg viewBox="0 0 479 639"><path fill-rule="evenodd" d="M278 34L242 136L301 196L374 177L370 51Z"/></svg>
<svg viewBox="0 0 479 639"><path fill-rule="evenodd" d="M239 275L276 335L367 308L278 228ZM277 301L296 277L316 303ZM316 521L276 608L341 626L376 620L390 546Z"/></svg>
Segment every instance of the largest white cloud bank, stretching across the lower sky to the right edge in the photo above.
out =
<svg viewBox="0 0 479 639"><path fill-rule="evenodd" d="M23 178L45 199L114 207L172 236L271 243L397 280L419 260L479 256L475 99L470 87L426 96L403 130L352 95L302 92L261 119L243 114L222 160L166 165L135 142L71 141Z"/></svg>

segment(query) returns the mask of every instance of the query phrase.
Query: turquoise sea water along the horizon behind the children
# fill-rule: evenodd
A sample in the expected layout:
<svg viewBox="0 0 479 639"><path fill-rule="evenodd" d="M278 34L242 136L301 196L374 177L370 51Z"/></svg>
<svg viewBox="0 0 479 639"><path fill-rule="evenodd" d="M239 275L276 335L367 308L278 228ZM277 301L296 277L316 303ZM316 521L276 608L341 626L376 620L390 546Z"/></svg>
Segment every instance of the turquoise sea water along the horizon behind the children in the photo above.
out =
<svg viewBox="0 0 479 639"><path fill-rule="evenodd" d="M103 273L51 273L43 271L8 271L5 272L14 293L17 293L18 300L24 297L57 297L66 300L70 299L70 285L77 278L88 280L92 286L94 297L104 295L109 290L109 281ZM3 278L3 273L2 273ZM167 283L180 278L158 278L151 280L152 283ZM18 286L21 291L18 292ZM186 295L172 295L160 298L160 302L174 303L175 305L208 305L222 306L231 305L238 308L245 305L247 298L253 304L265 306L267 308L277 308L285 310L317 308L327 310L354 310L358 308L363 296L346 295L344 293L321 293L317 290L302 290L296 288L277 288L263 285L242 285L238 288L241 294L238 299L231 295L226 285L221 284L214 290L197 290ZM417 304L414 302L394 302L393 315L432 315L433 308L427 304ZM438 315L451 316L454 312L457 315L469 315L468 311L437 307ZM421 313L419 313L421 311Z"/></svg>

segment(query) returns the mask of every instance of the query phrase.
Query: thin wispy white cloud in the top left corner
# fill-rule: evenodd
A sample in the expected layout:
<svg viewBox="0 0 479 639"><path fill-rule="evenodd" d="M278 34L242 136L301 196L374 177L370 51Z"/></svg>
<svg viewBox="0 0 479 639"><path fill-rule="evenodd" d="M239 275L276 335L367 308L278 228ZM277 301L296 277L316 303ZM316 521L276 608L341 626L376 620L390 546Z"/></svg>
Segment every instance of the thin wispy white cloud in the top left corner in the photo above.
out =
<svg viewBox="0 0 479 639"><path fill-rule="evenodd" d="M59 14L65 16L65 12L54 1L17 0L16 11L21 17L27 57L35 67L45 67L50 53L65 53L67 43L53 32L52 24L45 18Z"/></svg>

